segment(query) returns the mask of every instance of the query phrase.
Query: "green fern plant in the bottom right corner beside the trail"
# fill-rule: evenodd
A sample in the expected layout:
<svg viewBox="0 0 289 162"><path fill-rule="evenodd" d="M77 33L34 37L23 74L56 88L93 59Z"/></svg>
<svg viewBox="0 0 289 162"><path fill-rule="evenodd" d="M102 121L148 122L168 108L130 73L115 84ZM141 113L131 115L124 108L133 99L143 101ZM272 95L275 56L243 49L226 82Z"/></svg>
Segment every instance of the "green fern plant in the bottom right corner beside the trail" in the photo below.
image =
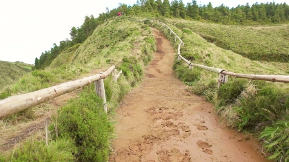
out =
<svg viewBox="0 0 289 162"><path fill-rule="evenodd" d="M289 121L280 121L266 127L260 139L264 140L266 151L272 153L268 159L289 162Z"/></svg>

